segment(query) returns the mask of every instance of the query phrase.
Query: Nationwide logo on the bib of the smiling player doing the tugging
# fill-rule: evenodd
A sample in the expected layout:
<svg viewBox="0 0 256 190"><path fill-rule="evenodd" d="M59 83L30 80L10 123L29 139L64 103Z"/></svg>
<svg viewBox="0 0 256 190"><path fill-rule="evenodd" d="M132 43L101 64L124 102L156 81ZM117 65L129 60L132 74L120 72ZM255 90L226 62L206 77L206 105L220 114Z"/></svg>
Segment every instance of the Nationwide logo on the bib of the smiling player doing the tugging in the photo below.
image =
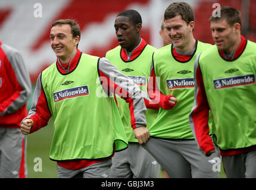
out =
<svg viewBox="0 0 256 190"><path fill-rule="evenodd" d="M60 102L61 100L71 99L74 97L88 96L88 85L81 87L68 88L65 90L57 91L54 93L54 102Z"/></svg>

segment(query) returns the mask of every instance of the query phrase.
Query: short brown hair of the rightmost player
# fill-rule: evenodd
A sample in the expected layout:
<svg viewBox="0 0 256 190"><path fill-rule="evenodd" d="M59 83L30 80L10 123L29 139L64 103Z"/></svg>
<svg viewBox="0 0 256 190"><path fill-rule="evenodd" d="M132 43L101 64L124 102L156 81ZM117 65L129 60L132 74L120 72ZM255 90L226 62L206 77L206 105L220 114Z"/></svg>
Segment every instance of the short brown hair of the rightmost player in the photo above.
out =
<svg viewBox="0 0 256 190"><path fill-rule="evenodd" d="M221 7L220 8L220 17L214 17L211 15L210 21L218 21L221 19L225 19L230 26L233 26L235 23L241 24L241 12L238 9L233 7Z"/></svg>

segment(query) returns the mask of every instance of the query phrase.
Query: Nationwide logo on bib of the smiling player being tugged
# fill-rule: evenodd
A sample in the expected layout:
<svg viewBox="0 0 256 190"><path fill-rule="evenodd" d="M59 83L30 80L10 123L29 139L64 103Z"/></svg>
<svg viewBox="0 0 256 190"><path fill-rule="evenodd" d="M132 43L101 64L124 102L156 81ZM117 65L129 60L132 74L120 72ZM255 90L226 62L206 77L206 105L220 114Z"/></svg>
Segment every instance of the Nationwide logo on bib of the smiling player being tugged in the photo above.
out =
<svg viewBox="0 0 256 190"><path fill-rule="evenodd" d="M193 78L167 79L166 84L168 89L195 87L195 81L193 80Z"/></svg>

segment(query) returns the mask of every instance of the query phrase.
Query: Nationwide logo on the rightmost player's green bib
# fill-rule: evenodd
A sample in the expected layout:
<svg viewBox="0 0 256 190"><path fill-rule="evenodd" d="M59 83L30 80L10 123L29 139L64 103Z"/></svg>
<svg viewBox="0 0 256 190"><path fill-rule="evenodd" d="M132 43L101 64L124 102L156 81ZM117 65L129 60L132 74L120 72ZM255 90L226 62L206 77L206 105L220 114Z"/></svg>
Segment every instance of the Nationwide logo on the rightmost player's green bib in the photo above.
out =
<svg viewBox="0 0 256 190"><path fill-rule="evenodd" d="M216 90L221 88L237 87L239 85L250 85L255 83L255 75L241 75L229 78L219 78L213 80L214 88Z"/></svg>

